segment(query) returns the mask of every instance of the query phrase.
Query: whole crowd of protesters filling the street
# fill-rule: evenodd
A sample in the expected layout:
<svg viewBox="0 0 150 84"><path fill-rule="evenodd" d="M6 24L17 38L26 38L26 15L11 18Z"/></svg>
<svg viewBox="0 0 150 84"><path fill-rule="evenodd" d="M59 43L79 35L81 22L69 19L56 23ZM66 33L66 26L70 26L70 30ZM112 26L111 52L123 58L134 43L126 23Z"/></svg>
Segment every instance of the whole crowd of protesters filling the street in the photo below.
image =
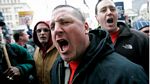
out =
<svg viewBox="0 0 150 84"><path fill-rule="evenodd" d="M49 23L14 31L14 42L0 20L2 84L148 84L149 35L139 30L149 26L119 22L112 0L98 0L95 17L91 29L78 8L58 5Z"/></svg>

